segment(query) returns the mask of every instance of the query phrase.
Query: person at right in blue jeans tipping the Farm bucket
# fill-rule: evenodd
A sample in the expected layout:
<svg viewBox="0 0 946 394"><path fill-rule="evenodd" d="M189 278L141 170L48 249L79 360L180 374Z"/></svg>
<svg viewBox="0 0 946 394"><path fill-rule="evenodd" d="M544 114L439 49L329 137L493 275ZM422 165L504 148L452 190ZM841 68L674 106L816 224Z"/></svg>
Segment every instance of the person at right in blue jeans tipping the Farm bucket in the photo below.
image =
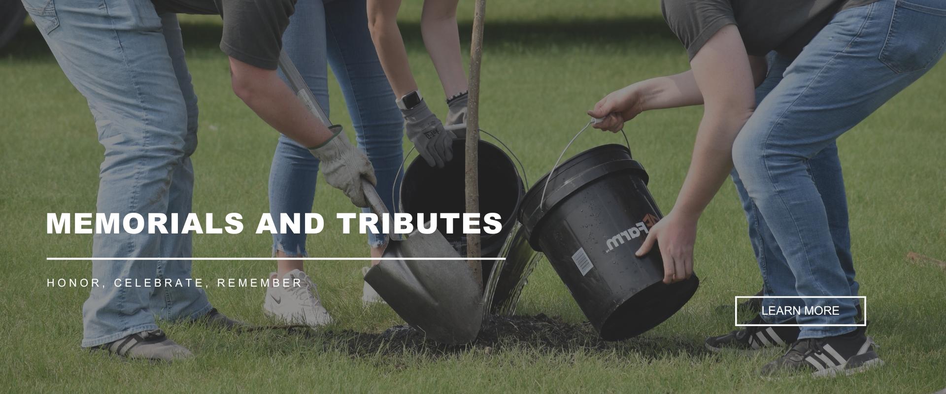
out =
<svg viewBox="0 0 946 394"><path fill-rule="evenodd" d="M699 4L697 4L699 3ZM663 0L691 70L608 94L588 114L616 131L642 111L704 105L692 163L657 242L664 282L692 274L697 220L731 173L762 271L763 308L834 306L834 315L764 314L706 346L788 345L763 376L851 374L883 365L855 326L858 283L837 138L922 77L946 48L939 0ZM774 51L770 61L765 55ZM734 170L733 170L734 168ZM841 298L845 297L845 298ZM774 326L797 324L798 326Z"/></svg>

